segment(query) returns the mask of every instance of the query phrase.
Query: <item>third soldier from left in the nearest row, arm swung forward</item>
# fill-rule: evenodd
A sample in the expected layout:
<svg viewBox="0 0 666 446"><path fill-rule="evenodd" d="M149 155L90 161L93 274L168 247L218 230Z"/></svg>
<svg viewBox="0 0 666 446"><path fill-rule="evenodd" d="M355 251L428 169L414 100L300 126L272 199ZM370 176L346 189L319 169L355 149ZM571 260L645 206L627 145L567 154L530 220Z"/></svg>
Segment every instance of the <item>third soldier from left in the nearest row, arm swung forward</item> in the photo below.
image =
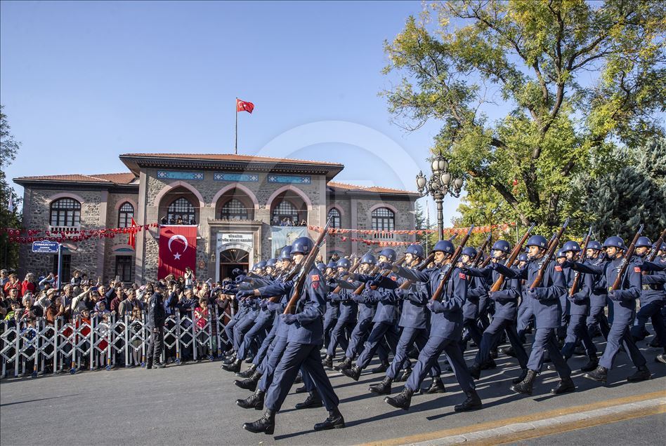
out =
<svg viewBox="0 0 666 446"><path fill-rule="evenodd" d="M527 281L523 296L535 316L536 330L527 365L528 372L523 381L511 386L511 390L517 393L532 394L535 378L543 365L544 352L548 351L560 377L559 384L551 389L551 393L572 392L575 390L575 385L571 379L571 369L560 353L555 335L555 330L560 325L562 313L559 298L566 290L562 267L551 261L546 266L541 283L535 288L531 288L543 262L547 261L545 254L548 241L544 236L531 236L526 245L532 262L523 269L516 271L500 263L492 264L494 269L508 278L525 279Z"/></svg>

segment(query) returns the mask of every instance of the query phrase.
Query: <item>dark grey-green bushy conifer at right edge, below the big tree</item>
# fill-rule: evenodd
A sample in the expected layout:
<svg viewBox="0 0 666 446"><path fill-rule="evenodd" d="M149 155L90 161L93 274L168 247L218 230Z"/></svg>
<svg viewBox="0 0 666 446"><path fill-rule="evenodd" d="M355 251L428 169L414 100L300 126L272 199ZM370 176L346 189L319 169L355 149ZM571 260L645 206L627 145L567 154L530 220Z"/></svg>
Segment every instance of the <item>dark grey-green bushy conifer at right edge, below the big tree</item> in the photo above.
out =
<svg viewBox="0 0 666 446"><path fill-rule="evenodd" d="M628 151L622 161L620 170L577 177L574 196L582 197L580 210L601 238L628 241L645 224L643 234L654 241L666 228L666 140Z"/></svg>

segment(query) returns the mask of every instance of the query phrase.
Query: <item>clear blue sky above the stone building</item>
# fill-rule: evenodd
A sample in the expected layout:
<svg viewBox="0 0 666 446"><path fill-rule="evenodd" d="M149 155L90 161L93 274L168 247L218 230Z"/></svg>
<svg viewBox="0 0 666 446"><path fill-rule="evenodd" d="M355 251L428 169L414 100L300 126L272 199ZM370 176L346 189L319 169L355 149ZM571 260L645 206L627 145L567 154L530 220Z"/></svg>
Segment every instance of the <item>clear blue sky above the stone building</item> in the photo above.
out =
<svg viewBox="0 0 666 446"><path fill-rule="evenodd" d="M129 152L233 153L236 96L256 107L238 116L241 154L336 161L339 181L410 190L428 170L438 123L405 133L378 96L384 40L419 1L0 8L0 101L22 142L10 178L122 172Z"/></svg>

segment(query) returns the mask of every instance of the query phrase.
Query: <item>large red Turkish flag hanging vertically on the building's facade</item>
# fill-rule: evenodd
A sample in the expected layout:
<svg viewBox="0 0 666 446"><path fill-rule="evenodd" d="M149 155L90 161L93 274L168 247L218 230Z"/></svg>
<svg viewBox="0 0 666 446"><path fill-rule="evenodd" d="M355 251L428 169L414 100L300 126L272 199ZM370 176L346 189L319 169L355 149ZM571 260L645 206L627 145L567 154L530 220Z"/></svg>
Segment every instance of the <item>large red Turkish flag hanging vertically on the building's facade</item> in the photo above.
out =
<svg viewBox="0 0 666 446"><path fill-rule="evenodd" d="M159 262L157 278L169 274L185 275L185 267L195 271L197 261L197 227L169 225L159 228Z"/></svg>

